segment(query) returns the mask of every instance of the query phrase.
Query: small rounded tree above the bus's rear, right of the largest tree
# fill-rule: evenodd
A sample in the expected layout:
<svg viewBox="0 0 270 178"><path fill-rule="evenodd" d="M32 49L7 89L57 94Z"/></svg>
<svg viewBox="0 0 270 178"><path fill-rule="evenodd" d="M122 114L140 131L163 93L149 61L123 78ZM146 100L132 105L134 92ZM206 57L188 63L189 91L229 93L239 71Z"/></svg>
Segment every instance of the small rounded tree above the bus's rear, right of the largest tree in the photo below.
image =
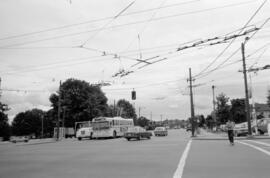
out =
<svg viewBox="0 0 270 178"><path fill-rule="evenodd" d="M121 117L136 119L137 115L135 109L130 102L121 99L117 102L117 108L121 110Z"/></svg>

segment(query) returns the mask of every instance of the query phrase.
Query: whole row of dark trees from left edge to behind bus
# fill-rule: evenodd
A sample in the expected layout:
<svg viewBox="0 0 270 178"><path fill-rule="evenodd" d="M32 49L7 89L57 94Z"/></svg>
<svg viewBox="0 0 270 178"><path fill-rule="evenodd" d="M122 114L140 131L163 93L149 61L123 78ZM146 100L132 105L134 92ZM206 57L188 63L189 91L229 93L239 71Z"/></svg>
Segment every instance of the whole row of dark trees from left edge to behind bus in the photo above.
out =
<svg viewBox="0 0 270 178"><path fill-rule="evenodd" d="M64 127L74 127L75 122L91 121L99 116L133 118L134 123L138 123L135 108L129 101L120 99L115 105L108 105L108 98L100 86L82 80L66 80L57 93L51 94L49 100L51 109L48 111L35 108L20 112L11 125L6 114L9 108L0 102L0 137L4 140L8 140L10 135L33 135L39 138L42 125L43 136L52 137L58 114L61 118L60 126Z"/></svg>

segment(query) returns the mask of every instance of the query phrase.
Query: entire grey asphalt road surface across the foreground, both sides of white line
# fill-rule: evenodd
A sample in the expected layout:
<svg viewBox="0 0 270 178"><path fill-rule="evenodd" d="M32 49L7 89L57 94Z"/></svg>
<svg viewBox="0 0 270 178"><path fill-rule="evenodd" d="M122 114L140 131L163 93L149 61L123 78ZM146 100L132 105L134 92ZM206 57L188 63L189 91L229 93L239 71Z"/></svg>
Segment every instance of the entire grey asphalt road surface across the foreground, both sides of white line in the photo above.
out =
<svg viewBox="0 0 270 178"><path fill-rule="evenodd" d="M270 177L269 140L241 140L234 146L227 140L192 140L187 149L189 140L184 130L170 130L167 137L130 142L3 144L0 177L173 178L181 166L179 178Z"/></svg>

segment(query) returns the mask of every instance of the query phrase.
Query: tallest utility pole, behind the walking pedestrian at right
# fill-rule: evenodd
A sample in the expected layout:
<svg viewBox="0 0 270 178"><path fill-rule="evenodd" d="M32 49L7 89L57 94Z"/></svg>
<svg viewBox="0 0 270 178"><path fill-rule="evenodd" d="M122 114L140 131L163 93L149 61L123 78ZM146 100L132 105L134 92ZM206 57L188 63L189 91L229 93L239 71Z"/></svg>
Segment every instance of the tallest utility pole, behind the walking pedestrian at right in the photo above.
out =
<svg viewBox="0 0 270 178"><path fill-rule="evenodd" d="M248 39L246 38L246 40ZM250 108L249 108L247 70L246 70L246 59L245 59L245 42L241 44L242 60L243 60L243 74L244 74L244 82L245 82L245 96L246 96L245 97L245 114L246 114L247 123L248 123L248 134L251 135Z"/></svg>

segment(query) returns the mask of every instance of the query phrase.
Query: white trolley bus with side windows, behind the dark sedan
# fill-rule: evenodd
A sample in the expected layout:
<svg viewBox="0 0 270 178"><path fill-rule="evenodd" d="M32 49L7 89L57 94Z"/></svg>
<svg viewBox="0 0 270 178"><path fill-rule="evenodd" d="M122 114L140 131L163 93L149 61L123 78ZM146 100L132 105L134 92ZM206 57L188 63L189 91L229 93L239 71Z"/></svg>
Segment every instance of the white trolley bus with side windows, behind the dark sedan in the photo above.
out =
<svg viewBox="0 0 270 178"><path fill-rule="evenodd" d="M92 138L122 137L129 127L133 127L133 119L122 117L98 117L92 120Z"/></svg>

